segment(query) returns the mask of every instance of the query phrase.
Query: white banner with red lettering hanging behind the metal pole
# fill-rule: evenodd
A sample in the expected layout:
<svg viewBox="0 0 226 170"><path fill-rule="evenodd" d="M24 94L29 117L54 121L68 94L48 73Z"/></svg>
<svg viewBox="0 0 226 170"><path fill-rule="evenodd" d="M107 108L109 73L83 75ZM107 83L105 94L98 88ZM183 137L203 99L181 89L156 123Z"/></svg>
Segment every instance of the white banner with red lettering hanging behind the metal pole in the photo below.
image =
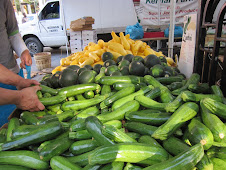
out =
<svg viewBox="0 0 226 170"><path fill-rule="evenodd" d="M177 0L175 24L183 23L185 15L197 13L198 0ZM140 0L136 12L141 25L168 25L170 0Z"/></svg>

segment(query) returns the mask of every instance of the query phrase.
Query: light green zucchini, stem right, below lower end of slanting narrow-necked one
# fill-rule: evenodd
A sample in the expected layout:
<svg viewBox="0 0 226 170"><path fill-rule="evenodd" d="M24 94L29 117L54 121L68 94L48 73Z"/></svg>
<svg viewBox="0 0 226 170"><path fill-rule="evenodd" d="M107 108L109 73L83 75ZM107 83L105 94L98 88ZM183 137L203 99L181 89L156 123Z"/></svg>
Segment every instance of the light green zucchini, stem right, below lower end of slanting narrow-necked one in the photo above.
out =
<svg viewBox="0 0 226 170"><path fill-rule="evenodd" d="M154 110L165 111L165 107L167 105L167 103L159 103L155 100L145 97L144 95L136 96L135 100L138 101L140 105Z"/></svg>

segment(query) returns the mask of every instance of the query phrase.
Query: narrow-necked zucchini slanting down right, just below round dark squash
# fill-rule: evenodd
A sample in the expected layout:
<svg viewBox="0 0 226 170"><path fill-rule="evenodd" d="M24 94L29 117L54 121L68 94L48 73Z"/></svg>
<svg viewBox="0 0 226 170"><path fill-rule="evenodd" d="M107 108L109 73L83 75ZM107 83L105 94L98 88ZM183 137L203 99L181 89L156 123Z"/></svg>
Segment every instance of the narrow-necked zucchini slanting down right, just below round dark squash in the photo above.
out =
<svg viewBox="0 0 226 170"><path fill-rule="evenodd" d="M159 87L160 88L160 90L161 90L160 100L163 103L169 103L169 102L172 102L174 100L173 95L171 94L171 92L169 91L169 89L166 86L163 86L154 77L152 77L150 75L146 75L146 76L144 76L144 80L145 80L145 82L147 84L151 84L154 87Z"/></svg>

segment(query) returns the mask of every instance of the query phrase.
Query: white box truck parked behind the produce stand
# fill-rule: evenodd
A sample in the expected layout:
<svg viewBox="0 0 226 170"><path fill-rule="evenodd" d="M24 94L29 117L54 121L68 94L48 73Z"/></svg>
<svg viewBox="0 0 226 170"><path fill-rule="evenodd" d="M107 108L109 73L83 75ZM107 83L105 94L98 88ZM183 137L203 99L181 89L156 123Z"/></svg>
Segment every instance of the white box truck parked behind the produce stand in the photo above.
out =
<svg viewBox="0 0 226 170"><path fill-rule="evenodd" d="M70 23L91 16L98 35L125 32L137 23L133 0L50 0L32 21L19 25L20 34L31 55L43 47L59 48L69 43Z"/></svg>

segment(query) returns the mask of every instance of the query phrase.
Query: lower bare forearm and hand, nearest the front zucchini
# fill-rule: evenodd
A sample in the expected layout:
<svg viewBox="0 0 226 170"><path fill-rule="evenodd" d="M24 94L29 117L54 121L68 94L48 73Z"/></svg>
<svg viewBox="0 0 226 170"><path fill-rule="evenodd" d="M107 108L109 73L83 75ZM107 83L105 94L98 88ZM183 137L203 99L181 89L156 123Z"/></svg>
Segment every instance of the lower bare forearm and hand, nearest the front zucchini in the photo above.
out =
<svg viewBox="0 0 226 170"><path fill-rule="evenodd" d="M44 110L45 106L36 95L36 92L40 89L39 86L28 87L22 90L0 88L0 105L15 104L18 108L31 112Z"/></svg>

